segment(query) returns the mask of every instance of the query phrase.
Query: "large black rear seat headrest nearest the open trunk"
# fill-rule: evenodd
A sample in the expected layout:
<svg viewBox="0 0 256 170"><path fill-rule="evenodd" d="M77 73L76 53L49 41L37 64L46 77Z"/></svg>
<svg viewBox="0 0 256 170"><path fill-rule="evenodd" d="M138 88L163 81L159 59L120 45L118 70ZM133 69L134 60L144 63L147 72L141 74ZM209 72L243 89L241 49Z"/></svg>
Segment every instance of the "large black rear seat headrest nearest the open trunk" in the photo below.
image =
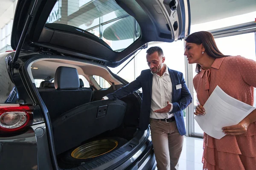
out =
<svg viewBox="0 0 256 170"><path fill-rule="evenodd" d="M54 77L55 89L79 89L79 77L76 68L60 66Z"/></svg>

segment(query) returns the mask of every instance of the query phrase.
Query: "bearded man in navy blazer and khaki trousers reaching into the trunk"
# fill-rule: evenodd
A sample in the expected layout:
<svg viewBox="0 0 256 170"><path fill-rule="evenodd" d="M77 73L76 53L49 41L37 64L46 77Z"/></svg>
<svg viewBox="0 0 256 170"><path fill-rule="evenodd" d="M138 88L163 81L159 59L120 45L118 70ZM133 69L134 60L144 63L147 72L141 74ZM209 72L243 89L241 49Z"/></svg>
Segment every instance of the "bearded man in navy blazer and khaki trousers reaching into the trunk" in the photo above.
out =
<svg viewBox="0 0 256 170"><path fill-rule="evenodd" d="M150 69L103 99L120 99L142 88L140 128L146 130L150 123L157 169L177 170L186 134L183 110L192 97L183 74L163 64L165 57L160 47L151 47L146 53Z"/></svg>

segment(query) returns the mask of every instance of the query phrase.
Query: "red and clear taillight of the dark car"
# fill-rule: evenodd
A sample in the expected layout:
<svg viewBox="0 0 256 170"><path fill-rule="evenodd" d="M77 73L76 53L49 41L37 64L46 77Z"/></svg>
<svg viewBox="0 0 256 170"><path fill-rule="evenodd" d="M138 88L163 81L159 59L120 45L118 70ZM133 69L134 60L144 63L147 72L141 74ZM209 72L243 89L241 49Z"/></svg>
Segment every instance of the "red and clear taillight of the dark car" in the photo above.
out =
<svg viewBox="0 0 256 170"><path fill-rule="evenodd" d="M0 105L0 133L15 132L33 123L33 107L26 105Z"/></svg>

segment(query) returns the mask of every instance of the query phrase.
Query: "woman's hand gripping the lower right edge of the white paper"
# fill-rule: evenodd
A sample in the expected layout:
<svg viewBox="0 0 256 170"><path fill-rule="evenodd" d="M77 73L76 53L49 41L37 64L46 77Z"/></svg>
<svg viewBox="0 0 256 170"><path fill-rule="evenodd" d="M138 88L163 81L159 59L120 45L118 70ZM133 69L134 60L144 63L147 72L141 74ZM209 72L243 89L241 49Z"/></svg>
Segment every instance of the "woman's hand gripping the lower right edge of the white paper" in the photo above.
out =
<svg viewBox="0 0 256 170"><path fill-rule="evenodd" d="M226 126L222 128L222 132L226 135L241 135L247 132L248 126L250 125L250 121L247 119L243 119L239 124L233 126Z"/></svg>

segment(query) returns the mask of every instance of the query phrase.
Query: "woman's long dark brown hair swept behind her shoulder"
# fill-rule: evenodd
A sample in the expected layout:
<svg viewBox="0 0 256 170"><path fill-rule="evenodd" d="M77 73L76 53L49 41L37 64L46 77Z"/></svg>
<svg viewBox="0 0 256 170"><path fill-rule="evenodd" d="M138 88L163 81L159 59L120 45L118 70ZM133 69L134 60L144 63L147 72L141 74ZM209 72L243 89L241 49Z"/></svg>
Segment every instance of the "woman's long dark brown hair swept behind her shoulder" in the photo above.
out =
<svg viewBox="0 0 256 170"><path fill-rule="evenodd" d="M211 33L207 31L199 31L193 34L190 34L186 39L186 42L195 43L195 44L202 44L205 48L205 51L210 57L213 58L221 58L221 57L228 57L219 51L214 37ZM195 72L199 73L201 71L201 65L197 64L195 68Z"/></svg>

